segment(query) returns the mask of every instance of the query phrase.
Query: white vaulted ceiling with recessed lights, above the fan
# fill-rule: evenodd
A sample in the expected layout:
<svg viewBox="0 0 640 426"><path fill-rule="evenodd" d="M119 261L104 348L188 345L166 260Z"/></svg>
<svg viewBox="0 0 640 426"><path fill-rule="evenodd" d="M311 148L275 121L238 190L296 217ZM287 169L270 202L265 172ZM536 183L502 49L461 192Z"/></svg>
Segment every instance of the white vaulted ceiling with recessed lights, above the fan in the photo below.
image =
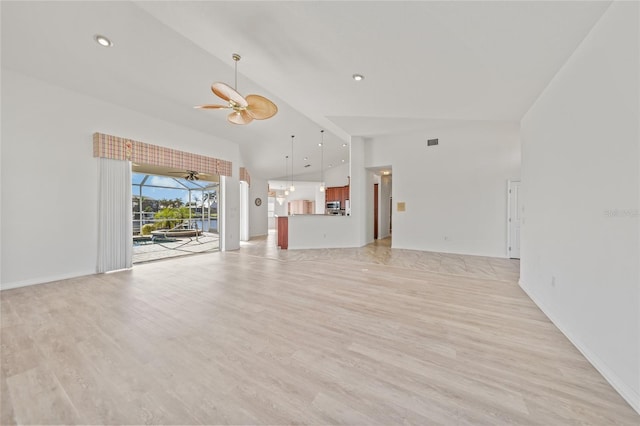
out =
<svg viewBox="0 0 640 426"><path fill-rule="evenodd" d="M326 166L350 135L519 121L609 3L2 1L2 66L237 142L256 177L283 177L295 134L296 172L319 175L321 128ZM273 119L193 109L233 84L234 52Z"/></svg>

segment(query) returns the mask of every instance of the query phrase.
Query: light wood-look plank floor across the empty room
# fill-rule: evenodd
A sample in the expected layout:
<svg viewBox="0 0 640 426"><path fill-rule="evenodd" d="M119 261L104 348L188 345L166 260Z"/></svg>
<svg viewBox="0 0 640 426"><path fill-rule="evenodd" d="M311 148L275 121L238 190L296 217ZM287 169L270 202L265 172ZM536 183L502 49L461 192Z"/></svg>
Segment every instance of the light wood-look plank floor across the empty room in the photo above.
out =
<svg viewBox="0 0 640 426"><path fill-rule="evenodd" d="M3 291L0 421L638 425L517 271L258 239Z"/></svg>

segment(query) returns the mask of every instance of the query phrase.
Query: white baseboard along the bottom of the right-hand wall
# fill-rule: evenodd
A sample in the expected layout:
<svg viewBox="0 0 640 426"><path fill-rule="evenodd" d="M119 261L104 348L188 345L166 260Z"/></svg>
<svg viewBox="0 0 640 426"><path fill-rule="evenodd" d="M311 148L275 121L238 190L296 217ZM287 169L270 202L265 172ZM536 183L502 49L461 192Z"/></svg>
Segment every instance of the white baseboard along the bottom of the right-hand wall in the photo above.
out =
<svg viewBox="0 0 640 426"><path fill-rule="evenodd" d="M567 339L573 344L584 355L584 357L595 367L596 370L604 377L604 379L609 382L609 384L624 398L625 401L631 405L631 407L640 414L640 393L636 392L629 385L627 385L617 374L615 374L607 365L606 362L602 360L598 355L593 353L586 345L584 345L578 338L574 337L567 331L567 329L563 326L563 324L558 321L558 318L552 315L549 312L543 303L532 294L532 292L527 289L527 286L522 282L522 280L518 281L520 288L527 293L527 296L533 303L535 303L538 308L551 320L551 322L560 330L562 334L565 335Z"/></svg>

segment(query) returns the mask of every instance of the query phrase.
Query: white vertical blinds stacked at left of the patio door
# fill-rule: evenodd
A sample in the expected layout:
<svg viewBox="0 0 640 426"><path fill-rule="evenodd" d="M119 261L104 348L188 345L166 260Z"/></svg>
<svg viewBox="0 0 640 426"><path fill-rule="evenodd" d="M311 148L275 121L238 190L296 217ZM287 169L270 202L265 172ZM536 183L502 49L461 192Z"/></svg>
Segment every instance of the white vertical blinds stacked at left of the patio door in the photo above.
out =
<svg viewBox="0 0 640 426"><path fill-rule="evenodd" d="M131 267L132 237L131 162L99 158L98 273Z"/></svg>

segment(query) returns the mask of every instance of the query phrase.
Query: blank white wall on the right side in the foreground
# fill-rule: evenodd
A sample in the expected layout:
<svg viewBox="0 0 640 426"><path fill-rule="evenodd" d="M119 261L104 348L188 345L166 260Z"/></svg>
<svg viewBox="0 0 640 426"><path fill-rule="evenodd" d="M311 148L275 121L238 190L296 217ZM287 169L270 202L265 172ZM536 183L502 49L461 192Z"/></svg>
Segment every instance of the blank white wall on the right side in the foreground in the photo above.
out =
<svg viewBox="0 0 640 426"><path fill-rule="evenodd" d="M640 411L638 9L614 2L522 120L520 280Z"/></svg>

